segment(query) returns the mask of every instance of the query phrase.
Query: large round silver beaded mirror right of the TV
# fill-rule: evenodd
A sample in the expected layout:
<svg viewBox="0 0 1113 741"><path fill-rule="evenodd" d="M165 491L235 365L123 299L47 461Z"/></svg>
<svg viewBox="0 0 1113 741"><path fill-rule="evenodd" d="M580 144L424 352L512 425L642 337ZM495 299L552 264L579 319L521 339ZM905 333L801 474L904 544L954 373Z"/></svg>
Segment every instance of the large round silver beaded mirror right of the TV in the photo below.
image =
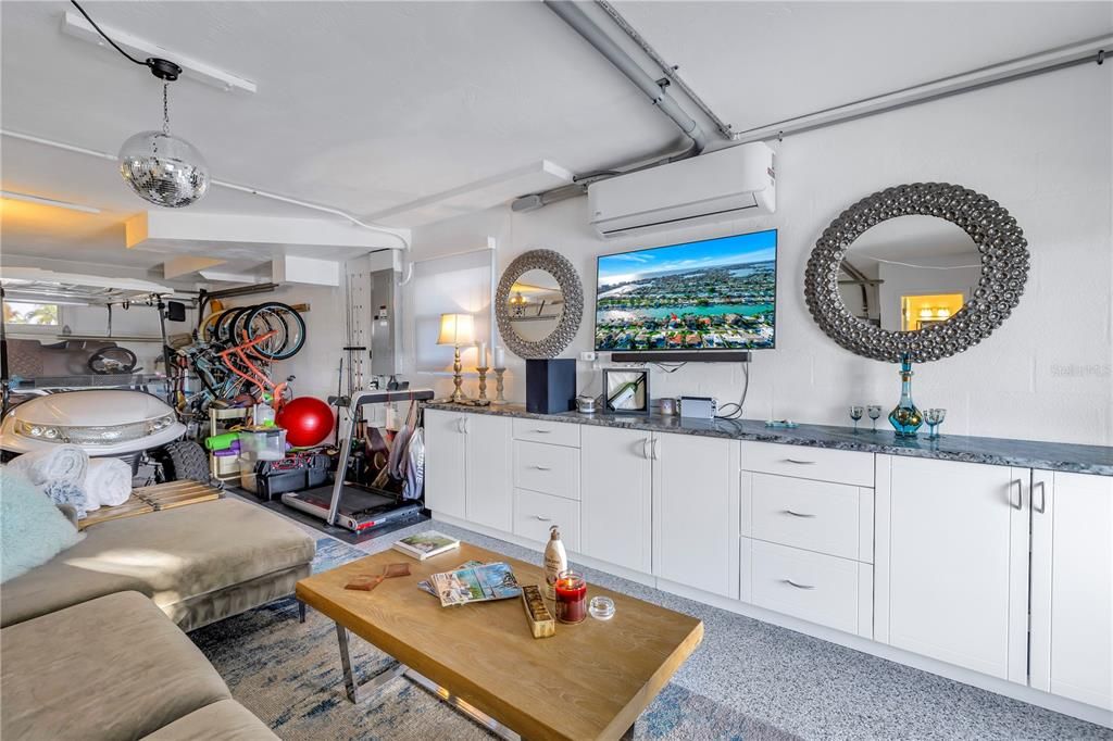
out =
<svg viewBox="0 0 1113 741"><path fill-rule="evenodd" d="M987 196L915 182L863 198L830 223L805 270L816 324L876 360L923 363L988 337L1020 303L1028 249Z"/></svg>

